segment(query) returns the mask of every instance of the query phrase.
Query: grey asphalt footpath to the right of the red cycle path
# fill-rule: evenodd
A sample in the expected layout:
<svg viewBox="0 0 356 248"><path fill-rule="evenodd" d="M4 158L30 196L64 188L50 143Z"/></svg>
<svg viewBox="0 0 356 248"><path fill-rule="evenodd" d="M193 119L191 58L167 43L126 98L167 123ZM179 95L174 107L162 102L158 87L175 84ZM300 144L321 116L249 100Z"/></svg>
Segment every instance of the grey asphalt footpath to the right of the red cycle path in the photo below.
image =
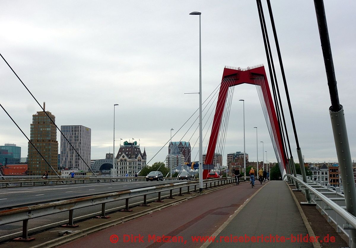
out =
<svg viewBox="0 0 356 248"><path fill-rule="evenodd" d="M311 228L308 233L287 183L271 181L212 234L214 242L202 247L313 247L298 239L307 234L314 235Z"/></svg>

